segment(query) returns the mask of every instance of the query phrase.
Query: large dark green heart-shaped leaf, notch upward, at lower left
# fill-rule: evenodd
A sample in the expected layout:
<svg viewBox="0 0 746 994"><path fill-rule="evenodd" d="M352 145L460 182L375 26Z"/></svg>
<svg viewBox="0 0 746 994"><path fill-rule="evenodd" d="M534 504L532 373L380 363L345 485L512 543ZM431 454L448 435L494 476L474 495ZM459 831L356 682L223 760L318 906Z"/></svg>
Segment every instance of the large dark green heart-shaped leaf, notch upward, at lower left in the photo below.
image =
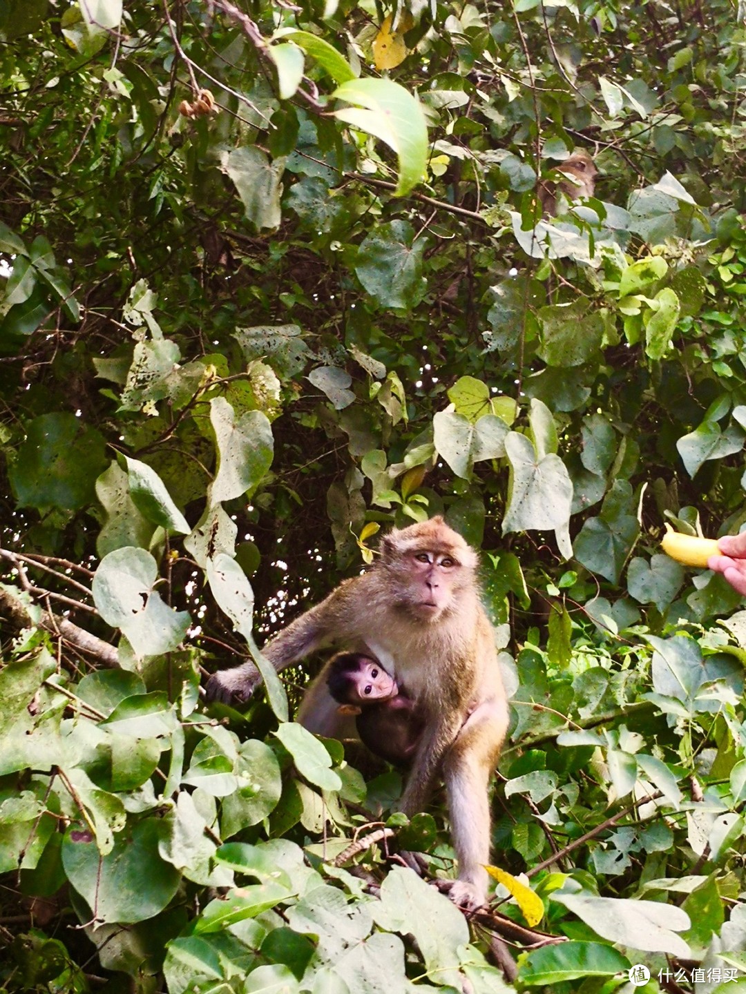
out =
<svg viewBox="0 0 746 994"><path fill-rule="evenodd" d="M164 834L159 819L145 818L117 833L111 852L101 856L79 823L68 828L62 850L65 872L100 921L144 921L169 904L181 876L158 855Z"/></svg>

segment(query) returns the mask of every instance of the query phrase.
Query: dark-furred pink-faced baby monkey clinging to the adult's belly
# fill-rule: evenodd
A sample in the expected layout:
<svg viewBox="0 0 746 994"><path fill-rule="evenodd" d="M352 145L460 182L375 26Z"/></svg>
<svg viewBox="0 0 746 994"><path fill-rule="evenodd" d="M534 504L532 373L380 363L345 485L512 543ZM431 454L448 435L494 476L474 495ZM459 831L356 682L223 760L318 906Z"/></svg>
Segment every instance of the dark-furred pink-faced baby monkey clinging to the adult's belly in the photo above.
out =
<svg viewBox="0 0 746 994"><path fill-rule="evenodd" d="M409 764L425 728L415 702L381 664L361 652L339 652L326 664L326 686L340 715L355 717L371 752L394 765Z"/></svg>

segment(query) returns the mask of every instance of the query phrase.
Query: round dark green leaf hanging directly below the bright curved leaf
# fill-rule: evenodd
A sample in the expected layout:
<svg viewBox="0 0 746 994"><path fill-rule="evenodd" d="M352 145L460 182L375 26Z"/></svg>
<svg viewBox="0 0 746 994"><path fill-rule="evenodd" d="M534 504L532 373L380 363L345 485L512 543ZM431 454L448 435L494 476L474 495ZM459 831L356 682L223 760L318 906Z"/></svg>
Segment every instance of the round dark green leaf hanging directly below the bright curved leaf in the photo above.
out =
<svg viewBox="0 0 746 994"><path fill-rule="evenodd" d="M381 307L409 310L425 294L424 251L424 240L415 241L408 221L377 225L358 249L355 272Z"/></svg>

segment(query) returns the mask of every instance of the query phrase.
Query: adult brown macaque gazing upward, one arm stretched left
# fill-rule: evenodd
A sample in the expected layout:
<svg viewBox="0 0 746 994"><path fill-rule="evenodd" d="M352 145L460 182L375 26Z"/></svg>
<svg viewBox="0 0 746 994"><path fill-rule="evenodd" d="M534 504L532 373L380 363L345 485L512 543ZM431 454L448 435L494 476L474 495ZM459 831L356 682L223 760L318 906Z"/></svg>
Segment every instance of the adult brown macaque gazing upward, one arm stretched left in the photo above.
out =
<svg viewBox="0 0 746 994"><path fill-rule="evenodd" d="M334 642L372 655L417 702L425 728L400 807L422 811L446 780L459 878L452 900L484 903L489 860L487 784L507 729L507 702L491 625L479 601L476 554L443 518L390 532L380 558L276 635L264 653L276 669ZM247 700L253 663L214 674L208 700ZM319 720L336 709L319 693ZM350 719L350 721L354 721Z"/></svg>

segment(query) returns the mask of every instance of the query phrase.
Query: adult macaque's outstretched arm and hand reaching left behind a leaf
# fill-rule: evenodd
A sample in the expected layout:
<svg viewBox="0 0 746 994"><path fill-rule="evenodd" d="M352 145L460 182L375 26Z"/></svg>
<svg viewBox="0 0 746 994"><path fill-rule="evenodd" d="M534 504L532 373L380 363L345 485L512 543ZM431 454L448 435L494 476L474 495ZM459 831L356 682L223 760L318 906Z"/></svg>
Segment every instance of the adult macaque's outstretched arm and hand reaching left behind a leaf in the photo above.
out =
<svg viewBox="0 0 746 994"><path fill-rule="evenodd" d="M325 600L295 618L267 643L263 655L278 672L323 648L333 635L338 634L346 590L346 584L338 586ZM259 670L247 660L233 669L213 673L205 689L207 700L222 704L248 701L261 682Z"/></svg>

